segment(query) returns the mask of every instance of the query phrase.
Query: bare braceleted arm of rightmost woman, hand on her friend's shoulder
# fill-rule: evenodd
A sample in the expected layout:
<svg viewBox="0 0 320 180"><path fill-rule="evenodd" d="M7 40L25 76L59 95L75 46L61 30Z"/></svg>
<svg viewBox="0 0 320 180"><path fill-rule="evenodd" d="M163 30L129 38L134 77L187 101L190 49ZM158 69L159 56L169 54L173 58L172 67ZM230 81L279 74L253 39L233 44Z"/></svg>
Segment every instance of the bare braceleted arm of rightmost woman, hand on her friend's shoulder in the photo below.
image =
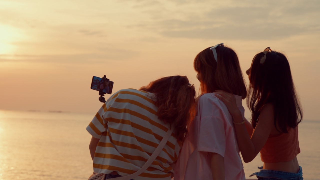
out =
<svg viewBox="0 0 320 180"><path fill-rule="evenodd" d="M227 105L228 110L233 117L233 121L236 123L243 122L244 119L242 118L240 110L236 107L234 96L223 91L219 91L216 93L219 94L217 95L217 97ZM255 127L251 138L248 134L247 128L249 126L246 121L241 125L235 124L234 127L238 145L244 162L251 162L267 142L270 132L274 127L273 115L273 105L266 104L260 112L259 123L257 123L257 126Z"/></svg>

